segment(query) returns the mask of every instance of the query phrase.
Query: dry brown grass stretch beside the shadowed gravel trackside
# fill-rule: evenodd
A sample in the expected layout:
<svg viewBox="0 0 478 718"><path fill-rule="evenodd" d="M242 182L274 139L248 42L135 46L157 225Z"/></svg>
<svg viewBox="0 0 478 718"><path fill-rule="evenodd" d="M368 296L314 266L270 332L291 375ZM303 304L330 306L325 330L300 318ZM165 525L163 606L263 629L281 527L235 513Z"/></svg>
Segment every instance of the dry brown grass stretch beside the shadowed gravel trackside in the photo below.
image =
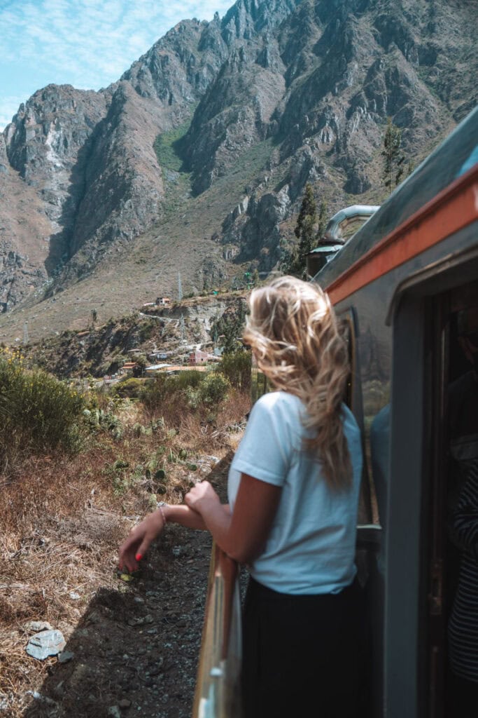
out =
<svg viewBox="0 0 478 718"><path fill-rule="evenodd" d="M151 417L136 405L121 417L125 431L119 442L100 434L77 457L29 458L8 480L0 479L0 716L24 716L32 703L27 691L39 690L57 663L57 658L27 656L24 624L47 620L68 640L93 595L102 589L118 592L118 544L153 506L154 487L138 467L165 447L167 493L161 498L180 503L191 482L210 470L201 457L230 454L248 409L247 396L233 391L214 424L182 411L174 426L137 437L133 424ZM196 472L188 462L168 460L180 449L187 450L188 462L198 462ZM113 468L118 458L128 464L122 490ZM72 592L80 599L72 599Z"/></svg>

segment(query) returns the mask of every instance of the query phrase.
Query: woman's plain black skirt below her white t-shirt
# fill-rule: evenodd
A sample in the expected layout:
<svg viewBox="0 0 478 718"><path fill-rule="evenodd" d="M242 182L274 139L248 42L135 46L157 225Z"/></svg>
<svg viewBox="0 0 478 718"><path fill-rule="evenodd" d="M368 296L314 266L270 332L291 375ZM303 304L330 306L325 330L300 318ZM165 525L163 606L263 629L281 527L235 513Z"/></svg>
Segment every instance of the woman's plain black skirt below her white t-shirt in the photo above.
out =
<svg viewBox="0 0 478 718"><path fill-rule="evenodd" d="M244 604L244 718L361 718L362 591L286 595L249 579Z"/></svg>

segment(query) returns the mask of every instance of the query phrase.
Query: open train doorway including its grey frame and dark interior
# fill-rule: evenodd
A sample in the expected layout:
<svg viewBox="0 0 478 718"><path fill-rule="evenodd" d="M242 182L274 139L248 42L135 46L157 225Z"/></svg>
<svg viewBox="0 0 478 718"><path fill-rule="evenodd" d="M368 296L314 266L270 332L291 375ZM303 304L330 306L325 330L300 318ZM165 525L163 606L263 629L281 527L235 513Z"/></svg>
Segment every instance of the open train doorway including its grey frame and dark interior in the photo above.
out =
<svg viewBox="0 0 478 718"><path fill-rule="evenodd" d="M477 276L435 270L393 309L387 718L478 716Z"/></svg>

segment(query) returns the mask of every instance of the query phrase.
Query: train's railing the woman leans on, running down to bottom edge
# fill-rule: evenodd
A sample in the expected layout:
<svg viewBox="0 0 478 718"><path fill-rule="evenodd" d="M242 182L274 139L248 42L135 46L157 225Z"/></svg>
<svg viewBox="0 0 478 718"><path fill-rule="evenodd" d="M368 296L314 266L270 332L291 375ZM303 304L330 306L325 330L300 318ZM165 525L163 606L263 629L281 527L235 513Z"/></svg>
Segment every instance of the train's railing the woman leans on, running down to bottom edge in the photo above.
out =
<svg viewBox="0 0 478 718"><path fill-rule="evenodd" d="M242 718L238 566L213 544L193 718Z"/></svg>

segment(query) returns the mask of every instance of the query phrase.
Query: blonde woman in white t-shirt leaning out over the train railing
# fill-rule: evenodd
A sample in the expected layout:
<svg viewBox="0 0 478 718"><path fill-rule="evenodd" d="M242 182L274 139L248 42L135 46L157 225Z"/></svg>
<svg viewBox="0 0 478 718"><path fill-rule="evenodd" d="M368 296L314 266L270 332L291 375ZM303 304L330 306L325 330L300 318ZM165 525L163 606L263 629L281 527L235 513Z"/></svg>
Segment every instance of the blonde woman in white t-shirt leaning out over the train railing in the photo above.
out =
<svg viewBox="0 0 478 718"><path fill-rule="evenodd" d="M229 505L209 482L133 529L138 567L172 521L207 528L251 578L244 607L246 718L358 716L360 589L355 526L362 452L343 404L349 366L329 299L290 276L255 289L244 340L276 391L252 408L229 471Z"/></svg>

